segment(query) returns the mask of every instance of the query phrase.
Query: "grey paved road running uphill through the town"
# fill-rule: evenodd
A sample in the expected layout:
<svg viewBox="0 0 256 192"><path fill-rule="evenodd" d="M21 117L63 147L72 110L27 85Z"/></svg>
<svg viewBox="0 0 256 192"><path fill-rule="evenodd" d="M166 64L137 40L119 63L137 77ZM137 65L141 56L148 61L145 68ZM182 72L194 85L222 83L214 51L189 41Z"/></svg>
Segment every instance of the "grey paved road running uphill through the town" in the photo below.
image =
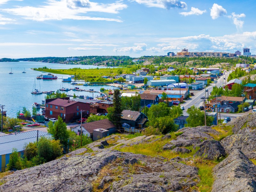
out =
<svg viewBox="0 0 256 192"><path fill-rule="evenodd" d="M206 89L208 89L208 93L210 94L210 92L212 92L212 88L214 86L220 87L223 84L225 84L225 80L228 79L229 74L231 73L231 71L227 71L225 73L225 75L220 76L220 78L218 78L217 83L212 83L211 85L209 85L208 87L206 87ZM226 78L226 79L224 79ZM204 102L202 99L200 99L200 97L205 96L208 97L207 92L205 92L205 89L203 90L193 90L191 92L194 92L195 96L191 96L188 100L184 100L185 103L183 103L181 106L184 106L185 110L183 111L183 115L184 116L188 116L187 114L187 110L189 107L191 107L192 105L195 105L196 107L200 107L203 106Z"/></svg>

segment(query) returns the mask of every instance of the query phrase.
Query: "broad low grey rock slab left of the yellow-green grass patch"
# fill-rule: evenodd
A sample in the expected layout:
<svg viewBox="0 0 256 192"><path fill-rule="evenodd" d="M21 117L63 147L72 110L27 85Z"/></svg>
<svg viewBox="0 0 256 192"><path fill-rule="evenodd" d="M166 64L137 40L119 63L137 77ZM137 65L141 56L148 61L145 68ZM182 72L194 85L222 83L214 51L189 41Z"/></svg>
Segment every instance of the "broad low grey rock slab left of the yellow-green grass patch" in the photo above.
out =
<svg viewBox="0 0 256 192"><path fill-rule="evenodd" d="M204 140L213 139L209 133L216 135L220 134L209 126L185 127L180 129L179 132L183 133L175 140L171 140L169 143L164 145L164 150L173 149L175 147L196 146L202 143Z"/></svg>

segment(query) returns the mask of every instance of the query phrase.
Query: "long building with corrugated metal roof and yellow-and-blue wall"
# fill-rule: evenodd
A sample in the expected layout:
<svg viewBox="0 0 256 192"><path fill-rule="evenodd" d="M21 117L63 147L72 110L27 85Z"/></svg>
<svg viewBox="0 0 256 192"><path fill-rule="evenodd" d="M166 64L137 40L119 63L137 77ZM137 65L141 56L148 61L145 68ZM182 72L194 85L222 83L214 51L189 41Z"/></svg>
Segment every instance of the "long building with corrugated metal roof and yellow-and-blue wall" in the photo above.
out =
<svg viewBox="0 0 256 192"><path fill-rule="evenodd" d="M24 147L30 142L36 142L40 137L52 138L52 135L43 131L28 131L12 135L1 136L0 142L0 171L5 171L6 165L9 163L12 149L16 148L19 155L24 155Z"/></svg>

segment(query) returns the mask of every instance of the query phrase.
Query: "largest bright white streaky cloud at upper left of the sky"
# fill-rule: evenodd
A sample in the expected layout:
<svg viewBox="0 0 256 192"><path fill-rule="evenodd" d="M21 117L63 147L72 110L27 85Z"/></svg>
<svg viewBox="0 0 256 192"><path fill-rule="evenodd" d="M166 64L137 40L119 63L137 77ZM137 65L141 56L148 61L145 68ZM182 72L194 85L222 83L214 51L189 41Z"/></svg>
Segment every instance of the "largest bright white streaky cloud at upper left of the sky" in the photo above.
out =
<svg viewBox="0 0 256 192"><path fill-rule="evenodd" d="M127 8L127 5L122 2L99 4L89 2L89 0L48 0L45 3L47 5L39 7L17 6L16 8L2 9L1 11L36 21L73 19L122 22L120 19L89 17L84 14L87 12L118 13L119 10ZM90 6L86 6L86 3Z"/></svg>

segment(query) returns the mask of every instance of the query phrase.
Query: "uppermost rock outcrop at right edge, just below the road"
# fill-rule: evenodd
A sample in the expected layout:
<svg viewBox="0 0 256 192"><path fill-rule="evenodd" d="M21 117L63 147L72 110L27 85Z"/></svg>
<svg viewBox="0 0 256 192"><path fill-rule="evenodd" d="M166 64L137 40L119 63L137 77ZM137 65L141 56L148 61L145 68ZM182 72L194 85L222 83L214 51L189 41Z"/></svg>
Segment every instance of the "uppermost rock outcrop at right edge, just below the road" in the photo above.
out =
<svg viewBox="0 0 256 192"><path fill-rule="evenodd" d="M226 125L232 127L232 131L234 134L245 133L248 131L248 129L255 129L256 113L236 117L236 119L228 122Z"/></svg>

